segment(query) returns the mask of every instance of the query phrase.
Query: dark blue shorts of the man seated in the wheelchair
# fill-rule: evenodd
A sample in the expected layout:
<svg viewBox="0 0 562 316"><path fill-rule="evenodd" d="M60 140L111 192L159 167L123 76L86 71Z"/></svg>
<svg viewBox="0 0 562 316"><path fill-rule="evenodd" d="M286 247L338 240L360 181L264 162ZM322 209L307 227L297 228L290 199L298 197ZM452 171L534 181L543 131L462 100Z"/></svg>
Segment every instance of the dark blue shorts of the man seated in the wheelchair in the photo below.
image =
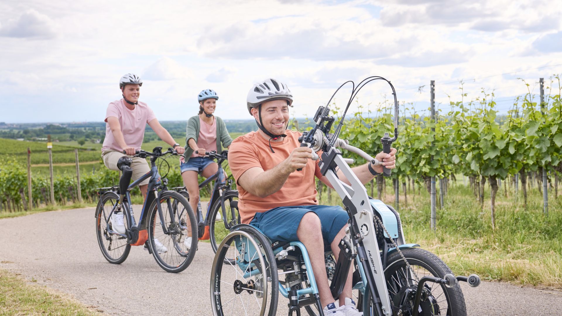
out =
<svg viewBox="0 0 562 316"><path fill-rule="evenodd" d="M259 228L271 241L296 241L302 216L309 212L318 215L324 243L328 244L332 243L349 219L341 206L306 205L275 207L264 213L256 213L250 224Z"/></svg>

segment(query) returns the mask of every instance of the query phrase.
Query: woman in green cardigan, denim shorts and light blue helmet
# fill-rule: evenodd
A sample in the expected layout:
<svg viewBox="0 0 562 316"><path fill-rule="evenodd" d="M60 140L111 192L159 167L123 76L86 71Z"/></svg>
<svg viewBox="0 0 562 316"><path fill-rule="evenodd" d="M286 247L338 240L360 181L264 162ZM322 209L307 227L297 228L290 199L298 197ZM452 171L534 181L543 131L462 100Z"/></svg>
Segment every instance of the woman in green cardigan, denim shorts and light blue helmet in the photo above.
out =
<svg viewBox="0 0 562 316"><path fill-rule="evenodd" d="M223 147L229 148L232 138L226 130L226 124L218 116L214 116L216 101L219 100L215 91L206 89L199 93L199 115L189 118L185 131L185 153L180 157L180 170L183 184L189 193L189 204L197 211L199 202L199 182L197 175L209 178L216 173L219 165L205 157L206 151L221 152ZM222 145L222 146L221 146ZM203 239L205 236L202 237ZM185 238L184 244L191 246L191 237Z"/></svg>

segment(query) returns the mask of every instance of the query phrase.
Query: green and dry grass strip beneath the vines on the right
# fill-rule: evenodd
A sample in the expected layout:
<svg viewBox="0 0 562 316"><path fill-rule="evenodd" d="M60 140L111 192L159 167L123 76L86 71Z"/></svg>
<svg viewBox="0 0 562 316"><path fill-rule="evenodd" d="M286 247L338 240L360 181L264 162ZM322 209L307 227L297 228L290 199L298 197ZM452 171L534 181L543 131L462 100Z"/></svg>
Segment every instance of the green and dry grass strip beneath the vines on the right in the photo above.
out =
<svg viewBox="0 0 562 316"><path fill-rule="evenodd" d="M417 188L415 195L408 192L407 204L401 192L398 212L406 242L419 243L423 249L434 252L456 274L477 273L490 281L562 288L562 197L555 199L551 192L549 216L545 216L542 195L536 187L528 193L527 210L523 207L521 189L518 201L511 191L508 190L507 197L504 187L498 191L496 229L492 229L488 187L481 210L472 189L463 186L462 180L459 185L451 184L445 207L437 206L437 231L430 229L427 191L422 188L421 195ZM394 205L391 187L387 193L383 201ZM338 197L332 191L332 203L337 202ZM320 203L329 204L326 193Z"/></svg>

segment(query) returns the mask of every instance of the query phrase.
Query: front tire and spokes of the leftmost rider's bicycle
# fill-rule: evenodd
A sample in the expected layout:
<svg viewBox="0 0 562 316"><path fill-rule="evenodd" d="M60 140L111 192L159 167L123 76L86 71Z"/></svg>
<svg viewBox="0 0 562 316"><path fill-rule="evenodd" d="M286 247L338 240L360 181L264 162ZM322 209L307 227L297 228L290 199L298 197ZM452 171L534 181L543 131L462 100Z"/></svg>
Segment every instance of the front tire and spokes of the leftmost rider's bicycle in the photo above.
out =
<svg viewBox="0 0 562 316"><path fill-rule="evenodd" d="M169 230L169 233L164 234L164 232L158 232L158 228L161 228L161 222L156 200L152 202L149 208L150 212L147 219L147 232L149 246L151 247L152 255L154 256L156 263L166 272L179 273L191 264L191 261L195 256L195 252L197 251L198 240L197 238L192 238L191 247L189 250L185 249L183 240L187 238L187 236L184 236L185 234L183 230L179 228L179 225L175 225L178 224L178 222L175 221L174 223L171 223L166 220L166 218L169 217L169 209L167 208L168 204L166 203L166 200L171 198L174 198L175 201L174 203L170 202L169 205L178 206L181 204L183 207L182 211L187 213L189 217L189 224L191 225L192 232L196 231L195 215L193 214L191 206L189 206L189 202L178 192L162 191L160 193L160 204L162 206L162 216L166 221L166 229ZM178 213L178 210L173 210L173 213ZM155 234L158 236L155 236ZM166 235L168 237L165 237ZM157 251L155 238L166 238L165 240L162 240L164 242L159 241L166 247L166 252L162 252L161 254Z"/></svg>

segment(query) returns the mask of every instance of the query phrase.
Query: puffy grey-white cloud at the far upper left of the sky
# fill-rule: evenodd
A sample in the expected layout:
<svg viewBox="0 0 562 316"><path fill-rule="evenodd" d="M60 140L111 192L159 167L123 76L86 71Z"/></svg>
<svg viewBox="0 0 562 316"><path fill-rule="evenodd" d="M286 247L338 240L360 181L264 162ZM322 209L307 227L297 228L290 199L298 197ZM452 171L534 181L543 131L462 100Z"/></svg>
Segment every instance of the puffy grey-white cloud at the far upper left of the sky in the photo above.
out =
<svg viewBox="0 0 562 316"><path fill-rule="evenodd" d="M16 38L50 39L56 36L56 24L47 15L28 10L0 28L0 36Z"/></svg>

